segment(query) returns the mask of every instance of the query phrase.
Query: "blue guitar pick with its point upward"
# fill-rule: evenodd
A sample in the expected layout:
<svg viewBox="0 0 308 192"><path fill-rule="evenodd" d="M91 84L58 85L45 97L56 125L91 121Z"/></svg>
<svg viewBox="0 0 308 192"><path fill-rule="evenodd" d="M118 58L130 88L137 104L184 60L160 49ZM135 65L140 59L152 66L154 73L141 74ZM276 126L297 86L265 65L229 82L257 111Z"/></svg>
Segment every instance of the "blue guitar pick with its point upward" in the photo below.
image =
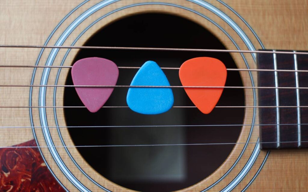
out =
<svg viewBox="0 0 308 192"><path fill-rule="evenodd" d="M141 66L131 85L170 86L166 75L154 61ZM173 93L171 88L129 88L126 102L137 113L160 114L172 107Z"/></svg>

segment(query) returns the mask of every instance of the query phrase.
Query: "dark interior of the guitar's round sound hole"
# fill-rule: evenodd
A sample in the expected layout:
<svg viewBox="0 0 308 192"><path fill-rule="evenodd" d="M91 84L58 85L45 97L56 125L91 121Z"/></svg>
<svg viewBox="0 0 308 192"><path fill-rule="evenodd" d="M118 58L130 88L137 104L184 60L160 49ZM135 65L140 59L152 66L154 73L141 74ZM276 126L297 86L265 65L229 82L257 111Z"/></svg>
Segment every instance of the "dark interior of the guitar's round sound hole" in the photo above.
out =
<svg viewBox="0 0 308 192"><path fill-rule="evenodd" d="M102 28L86 46L127 46L226 49L208 30L187 19L167 14L139 14ZM237 68L229 53L82 49L75 61L102 57L118 66L141 66L155 61L160 67L180 67L194 57L214 57L227 68ZM74 61L74 62L75 62ZM129 85L137 69L120 69L117 85ZM181 85L178 70L164 70L171 85ZM68 73L67 85L72 85ZM228 71L226 86L242 86L240 74ZM115 88L105 106L127 106L128 88ZM193 106L183 88L173 88L174 106ZM243 89L225 89L218 106L243 106ZM83 106L74 88L65 88L64 106ZM143 145L186 143L234 143L241 127L201 126L242 124L243 108L215 108L202 114L197 108L172 108L159 115L142 115L129 108L102 108L91 113L85 108L65 108L67 126L75 145ZM121 186L138 191L173 191L200 182L228 157L234 145L178 145L145 147L80 147L83 158L99 174ZM100 181L97 181L100 182Z"/></svg>

